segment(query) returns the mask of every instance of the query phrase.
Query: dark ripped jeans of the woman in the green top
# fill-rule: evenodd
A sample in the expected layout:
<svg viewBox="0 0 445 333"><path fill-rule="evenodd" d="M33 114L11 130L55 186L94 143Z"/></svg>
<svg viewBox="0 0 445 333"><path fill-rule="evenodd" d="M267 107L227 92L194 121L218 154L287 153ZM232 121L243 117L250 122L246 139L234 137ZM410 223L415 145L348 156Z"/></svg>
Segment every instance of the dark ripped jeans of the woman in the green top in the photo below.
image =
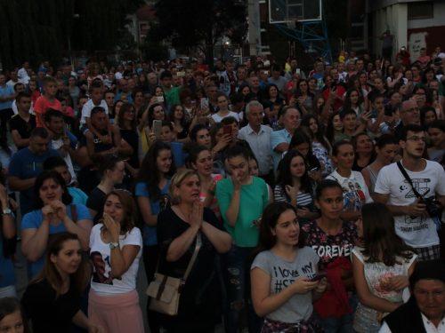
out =
<svg viewBox="0 0 445 333"><path fill-rule="evenodd" d="M239 332L239 313L247 304L247 325L249 333L261 331L262 320L255 313L250 286L250 255L253 248L240 248L235 244L222 256L223 279L227 293L224 311L226 333Z"/></svg>

